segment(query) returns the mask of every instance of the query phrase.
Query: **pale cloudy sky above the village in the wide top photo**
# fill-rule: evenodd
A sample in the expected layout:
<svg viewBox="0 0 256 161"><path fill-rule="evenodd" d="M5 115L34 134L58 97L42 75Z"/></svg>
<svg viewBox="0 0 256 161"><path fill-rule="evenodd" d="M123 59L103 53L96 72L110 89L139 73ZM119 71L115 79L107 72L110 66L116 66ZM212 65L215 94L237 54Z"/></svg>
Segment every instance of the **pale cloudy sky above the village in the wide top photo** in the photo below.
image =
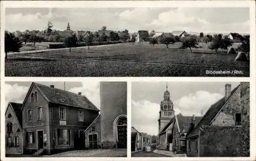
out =
<svg viewBox="0 0 256 161"><path fill-rule="evenodd" d="M53 29L249 33L249 8L6 8L8 31Z"/></svg>

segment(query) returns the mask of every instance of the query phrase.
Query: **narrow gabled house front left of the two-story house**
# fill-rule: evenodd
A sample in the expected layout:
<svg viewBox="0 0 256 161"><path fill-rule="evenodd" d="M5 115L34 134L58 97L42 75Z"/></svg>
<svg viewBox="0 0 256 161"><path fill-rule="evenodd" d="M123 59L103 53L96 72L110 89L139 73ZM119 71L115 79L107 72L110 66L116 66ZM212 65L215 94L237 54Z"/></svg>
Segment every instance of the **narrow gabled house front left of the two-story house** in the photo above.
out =
<svg viewBox="0 0 256 161"><path fill-rule="evenodd" d="M5 113L6 154L23 154L22 104L9 102Z"/></svg>

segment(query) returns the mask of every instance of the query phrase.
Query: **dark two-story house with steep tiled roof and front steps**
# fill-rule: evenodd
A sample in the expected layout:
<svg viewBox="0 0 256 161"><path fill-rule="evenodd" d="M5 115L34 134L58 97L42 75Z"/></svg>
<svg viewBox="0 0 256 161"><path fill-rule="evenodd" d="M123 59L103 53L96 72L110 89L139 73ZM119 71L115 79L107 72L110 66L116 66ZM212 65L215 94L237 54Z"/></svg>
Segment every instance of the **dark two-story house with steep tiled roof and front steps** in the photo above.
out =
<svg viewBox="0 0 256 161"><path fill-rule="evenodd" d="M85 148L84 130L99 110L81 93L32 83L22 105L24 152L53 154Z"/></svg>

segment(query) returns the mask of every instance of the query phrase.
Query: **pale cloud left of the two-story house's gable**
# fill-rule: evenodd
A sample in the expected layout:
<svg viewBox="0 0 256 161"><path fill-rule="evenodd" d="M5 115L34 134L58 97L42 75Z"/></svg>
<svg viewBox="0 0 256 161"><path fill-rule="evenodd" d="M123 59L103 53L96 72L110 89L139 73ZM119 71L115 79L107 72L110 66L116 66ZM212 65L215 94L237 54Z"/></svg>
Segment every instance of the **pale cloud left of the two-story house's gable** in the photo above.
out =
<svg viewBox="0 0 256 161"><path fill-rule="evenodd" d="M29 87L27 86L19 86L18 84L14 84L14 85L5 84L6 104L8 102L23 103L28 90L29 90Z"/></svg>

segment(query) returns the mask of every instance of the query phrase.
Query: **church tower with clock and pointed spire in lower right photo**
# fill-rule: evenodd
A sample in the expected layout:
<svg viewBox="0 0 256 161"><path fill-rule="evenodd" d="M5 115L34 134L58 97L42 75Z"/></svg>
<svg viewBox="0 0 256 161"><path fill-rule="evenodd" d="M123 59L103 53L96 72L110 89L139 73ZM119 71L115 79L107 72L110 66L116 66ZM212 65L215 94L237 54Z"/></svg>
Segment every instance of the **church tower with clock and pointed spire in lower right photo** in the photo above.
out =
<svg viewBox="0 0 256 161"><path fill-rule="evenodd" d="M163 100L160 104L160 112L158 119L158 132L174 117L174 105L170 100L168 84L166 83L166 91L164 92Z"/></svg>

